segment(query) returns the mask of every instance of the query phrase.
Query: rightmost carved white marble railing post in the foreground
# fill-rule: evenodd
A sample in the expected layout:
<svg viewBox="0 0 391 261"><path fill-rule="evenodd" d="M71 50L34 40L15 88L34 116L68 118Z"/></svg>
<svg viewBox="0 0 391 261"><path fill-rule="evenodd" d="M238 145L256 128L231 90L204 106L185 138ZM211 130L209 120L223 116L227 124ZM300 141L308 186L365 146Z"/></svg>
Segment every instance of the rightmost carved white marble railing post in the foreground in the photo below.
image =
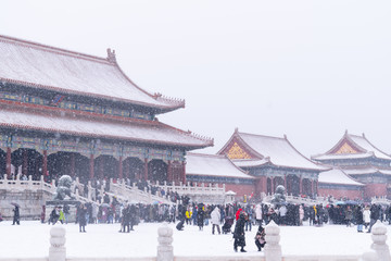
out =
<svg viewBox="0 0 391 261"><path fill-rule="evenodd" d="M377 221L371 228L371 238L374 240L370 246L379 256L379 261L391 261L390 249L387 241L387 227L380 221Z"/></svg>

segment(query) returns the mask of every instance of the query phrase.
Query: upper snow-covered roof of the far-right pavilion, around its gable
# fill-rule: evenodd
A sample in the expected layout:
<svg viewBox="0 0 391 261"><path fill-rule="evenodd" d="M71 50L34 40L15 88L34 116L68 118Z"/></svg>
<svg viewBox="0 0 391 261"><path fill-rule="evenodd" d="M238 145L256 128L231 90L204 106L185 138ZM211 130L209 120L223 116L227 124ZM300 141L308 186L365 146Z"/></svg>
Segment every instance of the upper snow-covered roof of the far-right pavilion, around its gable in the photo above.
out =
<svg viewBox="0 0 391 261"><path fill-rule="evenodd" d="M344 144L349 144L357 151L352 153L336 153ZM383 151L376 148L369 140L363 136L352 135L345 132L343 137L332 147L329 151L324 154L313 156L313 160L339 160L339 159L363 159L376 157L378 159L391 160L391 157Z"/></svg>

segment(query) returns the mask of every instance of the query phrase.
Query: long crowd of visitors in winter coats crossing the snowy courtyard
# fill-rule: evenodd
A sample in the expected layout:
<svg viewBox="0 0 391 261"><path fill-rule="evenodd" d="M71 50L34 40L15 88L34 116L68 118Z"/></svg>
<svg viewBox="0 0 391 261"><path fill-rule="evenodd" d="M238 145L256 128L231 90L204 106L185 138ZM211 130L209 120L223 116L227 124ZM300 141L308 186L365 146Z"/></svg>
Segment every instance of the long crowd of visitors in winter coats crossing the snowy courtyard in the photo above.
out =
<svg viewBox="0 0 391 261"><path fill-rule="evenodd" d="M185 226L198 226L203 231L211 224L211 233L232 234L234 250L245 252L245 233L257 227L254 243L258 249L265 246L265 228L270 221L281 226L308 225L321 226L326 223L345 226L357 226L363 233L364 227L370 233L376 221L388 221L391 224L391 207L380 204L268 204L268 203L228 203L204 204L190 202L188 197L180 198L180 204L166 203L123 203L115 197L110 199L105 194L102 202L80 203L76 209L76 223L79 232L85 233L87 224L118 223L119 233L130 233L140 222L175 223L178 231ZM42 207L41 222L45 223L46 207ZM70 206L55 206L48 216L48 224L68 223ZM13 224L20 224L18 206L14 208ZM222 226L223 225L223 226ZM235 225L234 227L231 227Z"/></svg>

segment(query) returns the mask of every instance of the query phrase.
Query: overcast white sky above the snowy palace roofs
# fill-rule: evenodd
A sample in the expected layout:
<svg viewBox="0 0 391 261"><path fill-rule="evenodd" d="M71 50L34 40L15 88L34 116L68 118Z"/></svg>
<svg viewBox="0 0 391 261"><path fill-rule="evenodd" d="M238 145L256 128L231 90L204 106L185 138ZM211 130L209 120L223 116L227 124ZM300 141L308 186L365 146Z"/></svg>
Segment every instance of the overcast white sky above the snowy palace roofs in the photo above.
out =
<svg viewBox="0 0 391 261"><path fill-rule="evenodd" d="M305 156L348 129L391 153L391 1L2 0L0 34L106 57L150 92L186 100L159 119L213 137L282 137Z"/></svg>

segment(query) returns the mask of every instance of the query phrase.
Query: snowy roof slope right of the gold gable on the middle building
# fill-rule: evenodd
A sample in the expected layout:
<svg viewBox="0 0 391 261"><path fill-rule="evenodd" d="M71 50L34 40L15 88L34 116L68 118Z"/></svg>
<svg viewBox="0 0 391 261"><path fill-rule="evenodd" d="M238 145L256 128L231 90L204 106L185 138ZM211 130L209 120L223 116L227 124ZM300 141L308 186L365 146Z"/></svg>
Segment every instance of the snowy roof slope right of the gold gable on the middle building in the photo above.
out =
<svg viewBox="0 0 391 261"><path fill-rule="evenodd" d="M262 159L268 160L274 165L315 171L326 170L301 154L286 137L270 137L263 135L236 132L241 140Z"/></svg>

